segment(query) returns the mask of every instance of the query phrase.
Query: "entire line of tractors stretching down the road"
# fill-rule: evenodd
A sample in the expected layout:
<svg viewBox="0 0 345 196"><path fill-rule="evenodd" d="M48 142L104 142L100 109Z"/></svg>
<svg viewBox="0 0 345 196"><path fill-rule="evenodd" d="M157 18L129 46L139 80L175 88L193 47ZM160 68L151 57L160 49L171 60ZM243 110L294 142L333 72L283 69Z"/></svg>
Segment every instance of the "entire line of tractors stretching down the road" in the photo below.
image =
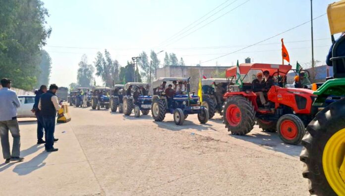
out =
<svg viewBox="0 0 345 196"><path fill-rule="evenodd" d="M92 109L111 108L126 116L134 111L135 117L151 110L153 120L159 122L173 114L176 125L192 114L205 124L219 113L225 128L240 136L258 125L265 132L277 132L288 145L302 144L303 177L309 179L311 194L345 195L345 56L338 54L338 48L344 49L345 36L334 38L345 32L345 0L330 4L327 12L334 75L325 83L297 88L286 83L288 73L308 78L308 71L293 70L291 65L245 63L228 68L226 78L201 80L202 96L190 89L190 78L158 78L151 84L78 88L70 91L68 102L79 107L86 101ZM263 104L251 81L265 72L274 84L265 91Z"/></svg>

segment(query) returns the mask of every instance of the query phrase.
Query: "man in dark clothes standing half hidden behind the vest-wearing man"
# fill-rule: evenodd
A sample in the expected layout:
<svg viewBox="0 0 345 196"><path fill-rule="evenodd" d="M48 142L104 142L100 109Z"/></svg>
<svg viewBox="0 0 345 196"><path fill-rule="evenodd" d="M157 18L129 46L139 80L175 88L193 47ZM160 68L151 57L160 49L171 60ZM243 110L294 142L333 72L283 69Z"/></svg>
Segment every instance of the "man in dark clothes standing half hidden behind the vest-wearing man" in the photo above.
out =
<svg viewBox="0 0 345 196"><path fill-rule="evenodd" d="M42 85L38 91L35 92L35 103L32 107L32 112L35 113L37 118L37 144L45 144L46 141L43 140L43 119L40 110L38 109L38 102L40 101L40 97L42 94L47 92L47 86Z"/></svg>

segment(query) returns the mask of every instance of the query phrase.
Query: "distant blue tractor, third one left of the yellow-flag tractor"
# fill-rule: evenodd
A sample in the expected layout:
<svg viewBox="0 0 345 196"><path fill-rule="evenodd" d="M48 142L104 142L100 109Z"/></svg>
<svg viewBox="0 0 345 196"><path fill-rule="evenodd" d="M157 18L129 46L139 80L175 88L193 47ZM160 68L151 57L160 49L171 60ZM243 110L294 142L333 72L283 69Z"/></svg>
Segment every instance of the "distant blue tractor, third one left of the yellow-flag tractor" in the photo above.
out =
<svg viewBox="0 0 345 196"><path fill-rule="evenodd" d="M98 109L105 107L110 108L110 88L109 87L96 87L93 90L93 95L91 97L91 107L92 109Z"/></svg>

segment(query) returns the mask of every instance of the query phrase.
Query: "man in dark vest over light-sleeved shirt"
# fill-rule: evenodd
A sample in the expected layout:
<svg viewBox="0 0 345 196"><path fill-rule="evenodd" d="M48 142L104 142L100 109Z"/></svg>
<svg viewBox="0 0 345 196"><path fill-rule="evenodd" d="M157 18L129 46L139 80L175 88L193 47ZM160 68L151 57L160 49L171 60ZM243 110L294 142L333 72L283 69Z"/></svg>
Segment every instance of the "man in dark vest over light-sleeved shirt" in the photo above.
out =
<svg viewBox="0 0 345 196"><path fill-rule="evenodd" d="M61 108L58 103L58 97L55 95L58 91L58 86L52 84L49 87L49 91L41 95L38 103L38 108L41 110L40 113L43 118L43 126L46 130L46 150L47 152L58 151L58 148L54 148L54 142L58 139L54 139L55 131L55 116L57 110Z"/></svg>

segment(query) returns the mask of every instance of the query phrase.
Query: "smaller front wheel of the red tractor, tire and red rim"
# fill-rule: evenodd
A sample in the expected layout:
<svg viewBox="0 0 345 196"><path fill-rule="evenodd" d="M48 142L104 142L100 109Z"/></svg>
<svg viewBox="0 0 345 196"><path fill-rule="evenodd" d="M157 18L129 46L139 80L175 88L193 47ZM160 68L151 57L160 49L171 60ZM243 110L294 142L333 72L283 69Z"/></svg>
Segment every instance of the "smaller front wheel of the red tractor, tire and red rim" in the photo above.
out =
<svg viewBox="0 0 345 196"><path fill-rule="evenodd" d="M277 132L284 143L298 145L305 134L304 123L294 114L285 114L277 122Z"/></svg>

